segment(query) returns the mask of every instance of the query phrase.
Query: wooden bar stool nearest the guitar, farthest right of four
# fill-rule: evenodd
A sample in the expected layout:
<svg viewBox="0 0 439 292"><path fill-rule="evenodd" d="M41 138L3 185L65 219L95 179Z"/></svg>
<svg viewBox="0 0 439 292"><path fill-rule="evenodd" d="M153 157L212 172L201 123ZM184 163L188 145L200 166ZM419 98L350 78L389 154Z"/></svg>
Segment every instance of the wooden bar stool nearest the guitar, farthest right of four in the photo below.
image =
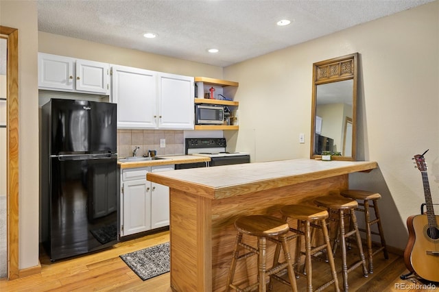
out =
<svg viewBox="0 0 439 292"><path fill-rule="evenodd" d="M385 239L384 239L384 232L383 232L383 226L381 225L381 218L379 217L379 210L378 210L378 199L381 199L381 195L379 193L374 193L370 191L361 191L361 190L345 190L341 191L340 195L343 197L348 197L351 199L359 200L362 202L358 202L359 206L362 206L363 208L356 208L355 210L364 212L364 221L366 224L366 229L359 228L359 231L366 232L366 243L368 247L368 263L369 263L369 273L373 273L373 260L372 257L383 251L384 258L388 259L389 254L387 252L387 247L385 245ZM372 203L372 204L371 204ZM370 206L372 206L375 210L375 219L370 219ZM378 226L378 232L373 232L370 228L372 224L377 223ZM381 247L379 247L377 250L372 250L372 234L379 235L381 239Z"/></svg>

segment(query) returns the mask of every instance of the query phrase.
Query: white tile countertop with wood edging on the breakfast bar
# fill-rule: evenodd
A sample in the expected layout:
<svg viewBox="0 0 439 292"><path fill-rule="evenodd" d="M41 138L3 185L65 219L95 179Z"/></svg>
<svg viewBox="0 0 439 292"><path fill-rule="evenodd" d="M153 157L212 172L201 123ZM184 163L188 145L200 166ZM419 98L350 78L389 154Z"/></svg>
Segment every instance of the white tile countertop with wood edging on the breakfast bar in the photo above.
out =
<svg viewBox="0 0 439 292"><path fill-rule="evenodd" d="M196 188L198 195L221 199L357 171L370 171L377 167L377 162L370 161L303 158L148 173L147 180L185 190Z"/></svg>

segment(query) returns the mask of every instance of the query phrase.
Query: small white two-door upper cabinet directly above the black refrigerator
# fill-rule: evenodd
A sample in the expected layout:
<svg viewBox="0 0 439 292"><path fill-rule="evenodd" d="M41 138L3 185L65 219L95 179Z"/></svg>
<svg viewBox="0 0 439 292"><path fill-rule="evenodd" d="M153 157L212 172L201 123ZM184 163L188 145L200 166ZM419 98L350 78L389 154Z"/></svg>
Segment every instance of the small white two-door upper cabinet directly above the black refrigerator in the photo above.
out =
<svg viewBox="0 0 439 292"><path fill-rule="evenodd" d="M38 88L108 95L107 63L38 53Z"/></svg>

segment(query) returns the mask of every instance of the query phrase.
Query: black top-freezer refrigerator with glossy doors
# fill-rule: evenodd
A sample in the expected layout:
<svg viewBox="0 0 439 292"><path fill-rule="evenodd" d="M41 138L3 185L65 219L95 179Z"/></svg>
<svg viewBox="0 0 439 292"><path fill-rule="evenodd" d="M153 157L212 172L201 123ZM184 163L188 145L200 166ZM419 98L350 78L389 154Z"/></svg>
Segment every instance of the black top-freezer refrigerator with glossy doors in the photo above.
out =
<svg viewBox="0 0 439 292"><path fill-rule="evenodd" d="M40 241L51 261L117 242L117 110L51 99L41 110Z"/></svg>

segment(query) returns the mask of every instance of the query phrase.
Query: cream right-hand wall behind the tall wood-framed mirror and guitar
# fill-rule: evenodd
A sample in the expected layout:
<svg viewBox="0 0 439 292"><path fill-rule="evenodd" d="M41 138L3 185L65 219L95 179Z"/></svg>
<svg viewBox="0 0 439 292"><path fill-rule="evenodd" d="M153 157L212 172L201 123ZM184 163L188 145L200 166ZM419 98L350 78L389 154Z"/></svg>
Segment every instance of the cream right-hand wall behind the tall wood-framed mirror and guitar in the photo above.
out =
<svg viewBox="0 0 439 292"><path fill-rule="evenodd" d="M294 25L294 24L293 24ZM254 161L309 157L312 64L359 55L359 160L379 169L351 187L379 191L388 244L403 249L405 220L424 202L415 154L426 154L439 203L439 2L357 25L224 69L239 82L239 132L227 133ZM306 143L299 144L300 133Z"/></svg>

